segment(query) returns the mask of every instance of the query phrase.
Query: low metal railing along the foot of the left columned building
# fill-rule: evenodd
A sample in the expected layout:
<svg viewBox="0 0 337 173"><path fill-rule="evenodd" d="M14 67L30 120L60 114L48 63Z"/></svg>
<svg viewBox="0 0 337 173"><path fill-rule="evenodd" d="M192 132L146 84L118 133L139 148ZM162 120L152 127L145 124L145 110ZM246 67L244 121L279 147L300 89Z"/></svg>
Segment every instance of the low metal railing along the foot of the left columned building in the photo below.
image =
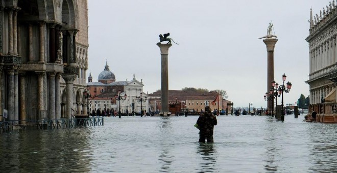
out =
<svg viewBox="0 0 337 173"><path fill-rule="evenodd" d="M53 119L53 120L11 120L0 122L0 132L12 129L65 129L81 126L103 126L103 117L91 117L81 119Z"/></svg>

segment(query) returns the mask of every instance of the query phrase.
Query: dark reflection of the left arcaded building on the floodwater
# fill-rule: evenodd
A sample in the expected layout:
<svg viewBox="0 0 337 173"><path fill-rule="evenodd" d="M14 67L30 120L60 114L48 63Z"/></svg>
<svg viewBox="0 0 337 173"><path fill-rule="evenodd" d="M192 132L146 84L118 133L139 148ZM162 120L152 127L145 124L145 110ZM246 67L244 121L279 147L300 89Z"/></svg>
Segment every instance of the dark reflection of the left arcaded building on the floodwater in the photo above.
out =
<svg viewBox="0 0 337 173"><path fill-rule="evenodd" d="M60 134L61 133L61 134ZM87 141L86 135L78 135L74 130L14 131L1 138L0 148L10 149L0 152L0 170L20 172L34 171L90 171L89 160L83 157ZM57 163L57 164L55 164ZM81 165L81 167L74 167Z"/></svg>

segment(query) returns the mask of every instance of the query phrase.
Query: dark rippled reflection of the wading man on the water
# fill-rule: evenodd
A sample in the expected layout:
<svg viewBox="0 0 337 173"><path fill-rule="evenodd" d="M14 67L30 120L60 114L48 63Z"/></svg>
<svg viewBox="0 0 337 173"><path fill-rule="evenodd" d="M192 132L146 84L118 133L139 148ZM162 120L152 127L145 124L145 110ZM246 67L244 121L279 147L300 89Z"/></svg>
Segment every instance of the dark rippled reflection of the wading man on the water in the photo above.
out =
<svg viewBox="0 0 337 173"><path fill-rule="evenodd" d="M202 143L200 142L197 147L197 153L200 155L201 163L199 163L200 172L212 172L214 171L216 164L216 150L214 148L214 143Z"/></svg>

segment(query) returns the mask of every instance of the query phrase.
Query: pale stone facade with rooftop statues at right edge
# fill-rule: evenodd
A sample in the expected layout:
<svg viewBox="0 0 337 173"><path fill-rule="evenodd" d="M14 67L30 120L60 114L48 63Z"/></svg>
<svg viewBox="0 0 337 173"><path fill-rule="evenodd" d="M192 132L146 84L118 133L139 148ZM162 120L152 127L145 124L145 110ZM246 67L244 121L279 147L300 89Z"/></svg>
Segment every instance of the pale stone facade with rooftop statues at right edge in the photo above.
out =
<svg viewBox="0 0 337 173"><path fill-rule="evenodd" d="M322 13L323 11L323 13ZM334 1L312 15L310 9L309 84L310 105L326 101L336 102L337 82L337 8ZM329 96L329 98L327 98Z"/></svg>

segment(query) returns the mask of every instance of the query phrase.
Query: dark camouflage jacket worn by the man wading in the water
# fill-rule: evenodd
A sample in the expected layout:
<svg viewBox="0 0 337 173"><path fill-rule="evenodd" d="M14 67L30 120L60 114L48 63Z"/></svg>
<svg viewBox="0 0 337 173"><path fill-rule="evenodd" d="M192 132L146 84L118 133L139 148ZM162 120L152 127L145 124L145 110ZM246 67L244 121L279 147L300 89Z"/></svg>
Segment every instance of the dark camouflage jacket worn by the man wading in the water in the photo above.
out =
<svg viewBox="0 0 337 173"><path fill-rule="evenodd" d="M218 121L216 121L216 117L212 113L205 113L200 115L197 124L200 134L213 135L213 128L218 124Z"/></svg>

